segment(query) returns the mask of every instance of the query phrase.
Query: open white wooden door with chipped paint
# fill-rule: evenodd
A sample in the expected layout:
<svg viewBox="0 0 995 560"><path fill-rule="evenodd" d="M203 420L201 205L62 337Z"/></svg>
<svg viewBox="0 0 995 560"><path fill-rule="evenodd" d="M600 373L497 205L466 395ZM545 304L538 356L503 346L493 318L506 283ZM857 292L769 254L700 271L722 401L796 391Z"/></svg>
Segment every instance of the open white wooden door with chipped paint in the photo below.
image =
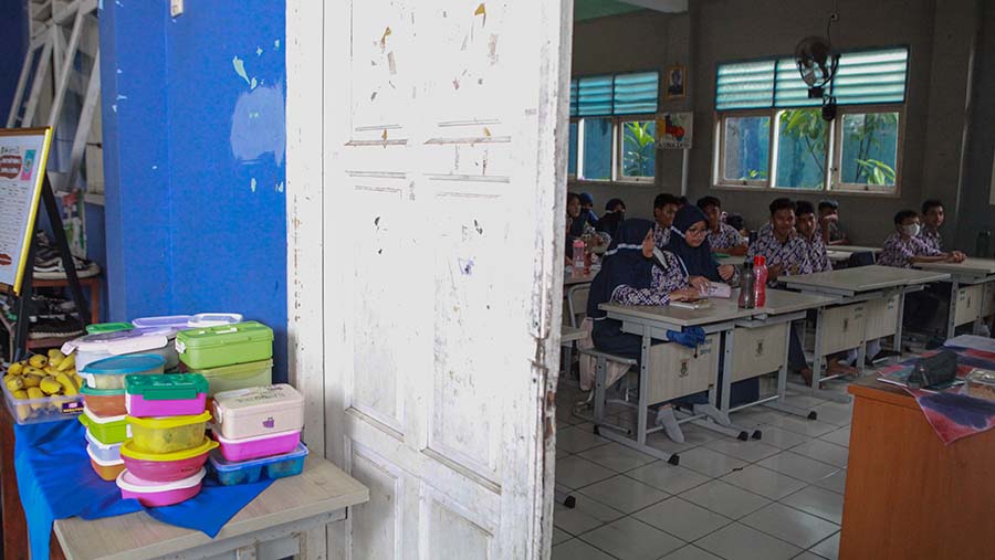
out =
<svg viewBox="0 0 995 560"><path fill-rule="evenodd" d="M325 4L333 557L548 552L569 6Z"/></svg>

